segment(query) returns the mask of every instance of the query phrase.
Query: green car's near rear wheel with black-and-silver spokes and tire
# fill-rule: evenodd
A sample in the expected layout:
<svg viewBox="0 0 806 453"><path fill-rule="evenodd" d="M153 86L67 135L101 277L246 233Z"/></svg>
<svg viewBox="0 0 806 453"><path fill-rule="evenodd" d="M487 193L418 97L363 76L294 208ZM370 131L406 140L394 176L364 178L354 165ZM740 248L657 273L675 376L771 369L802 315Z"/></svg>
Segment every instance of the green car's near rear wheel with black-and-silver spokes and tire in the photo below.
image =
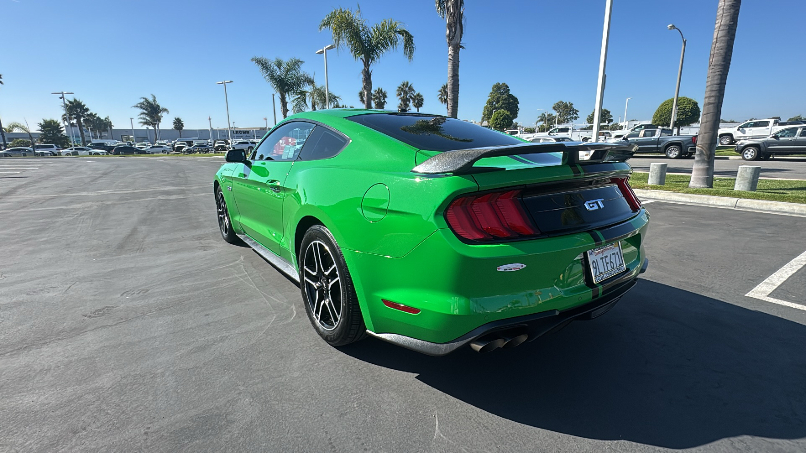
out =
<svg viewBox="0 0 806 453"><path fill-rule="evenodd" d="M314 225L305 231L297 263L302 303L316 333L330 346L363 339L366 327L355 287L342 251L326 227Z"/></svg>

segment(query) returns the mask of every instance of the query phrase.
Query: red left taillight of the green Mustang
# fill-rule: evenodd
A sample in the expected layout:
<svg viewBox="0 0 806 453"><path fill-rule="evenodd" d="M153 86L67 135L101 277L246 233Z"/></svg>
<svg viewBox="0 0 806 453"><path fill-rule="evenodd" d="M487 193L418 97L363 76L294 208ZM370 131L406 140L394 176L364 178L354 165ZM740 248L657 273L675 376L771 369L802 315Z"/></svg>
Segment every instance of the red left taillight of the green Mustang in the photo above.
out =
<svg viewBox="0 0 806 453"><path fill-rule="evenodd" d="M456 198L445 219L459 237L472 241L539 235L520 199L520 190Z"/></svg>

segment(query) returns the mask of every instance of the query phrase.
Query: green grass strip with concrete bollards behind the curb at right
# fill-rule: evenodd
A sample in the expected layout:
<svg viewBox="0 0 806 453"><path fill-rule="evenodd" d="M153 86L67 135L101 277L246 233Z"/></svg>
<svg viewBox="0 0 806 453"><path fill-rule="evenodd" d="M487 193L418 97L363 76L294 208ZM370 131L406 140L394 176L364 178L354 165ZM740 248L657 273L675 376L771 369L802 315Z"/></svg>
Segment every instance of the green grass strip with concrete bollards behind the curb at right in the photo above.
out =
<svg viewBox="0 0 806 453"><path fill-rule="evenodd" d="M666 185L649 185L646 182L649 173L634 172L629 178L629 185L634 189L666 190L667 192L696 193L697 195L713 195L716 197L750 198L770 202L788 202L806 204L806 181L758 180L758 190L744 192L733 190L736 178L714 177L713 189L689 189L690 176L667 175Z"/></svg>

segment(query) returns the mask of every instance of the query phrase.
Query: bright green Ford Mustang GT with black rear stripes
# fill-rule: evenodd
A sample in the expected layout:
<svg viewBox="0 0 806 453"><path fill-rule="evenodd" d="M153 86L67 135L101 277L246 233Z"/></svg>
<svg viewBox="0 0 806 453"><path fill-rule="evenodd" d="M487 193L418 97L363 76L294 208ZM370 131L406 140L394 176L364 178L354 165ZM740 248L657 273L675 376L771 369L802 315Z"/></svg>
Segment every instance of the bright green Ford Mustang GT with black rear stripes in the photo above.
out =
<svg viewBox="0 0 806 453"><path fill-rule="evenodd" d="M646 270L629 143L526 143L434 114L295 114L214 181L218 225L298 281L327 343L515 347Z"/></svg>

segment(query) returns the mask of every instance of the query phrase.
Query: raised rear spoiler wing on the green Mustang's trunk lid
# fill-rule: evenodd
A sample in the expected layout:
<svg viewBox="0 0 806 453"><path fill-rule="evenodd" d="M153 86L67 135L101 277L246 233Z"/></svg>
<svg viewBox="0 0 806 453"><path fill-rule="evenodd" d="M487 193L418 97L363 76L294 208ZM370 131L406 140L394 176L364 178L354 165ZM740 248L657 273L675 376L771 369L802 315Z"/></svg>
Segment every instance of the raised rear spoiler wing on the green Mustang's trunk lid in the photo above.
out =
<svg viewBox="0 0 806 453"><path fill-rule="evenodd" d="M485 157L524 156L546 152L562 152L565 165L624 162L637 150L638 146L633 143L523 143L492 148L457 149L440 152L411 171L426 175L471 173L473 164ZM591 152L590 159L580 160L580 152Z"/></svg>

